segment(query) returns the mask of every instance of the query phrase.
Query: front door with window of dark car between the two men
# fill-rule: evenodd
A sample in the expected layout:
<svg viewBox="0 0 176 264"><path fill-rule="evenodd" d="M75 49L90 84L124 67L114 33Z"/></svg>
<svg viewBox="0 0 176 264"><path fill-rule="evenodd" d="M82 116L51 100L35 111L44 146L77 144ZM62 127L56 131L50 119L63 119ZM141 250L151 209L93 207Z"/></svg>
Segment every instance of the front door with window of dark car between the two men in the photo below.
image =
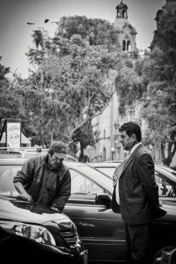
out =
<svg viewBox="0 0 176 264"><path fill-rule="evenodd" d="M105 205L95 204L95 196L106 192L77 170L70 169L72 195L63 213L76 224L79 236L88 249L91 260L125 260L124 223L120 214Z"/></svg>

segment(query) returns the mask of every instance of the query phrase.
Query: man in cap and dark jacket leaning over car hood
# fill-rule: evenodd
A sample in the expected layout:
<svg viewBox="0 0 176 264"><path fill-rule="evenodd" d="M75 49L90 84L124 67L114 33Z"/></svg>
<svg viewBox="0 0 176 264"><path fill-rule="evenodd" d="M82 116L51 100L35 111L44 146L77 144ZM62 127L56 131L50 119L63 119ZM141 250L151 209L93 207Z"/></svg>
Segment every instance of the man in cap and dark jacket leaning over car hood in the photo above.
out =
<svg viewBox="0 0 176 264"><path fill-rule="evenodd" d="M13 180L17 192L28 201L62 212L71 195L70 170L63 164L64 158L67 147L56 140L46 155L26 160Z"/></svg>

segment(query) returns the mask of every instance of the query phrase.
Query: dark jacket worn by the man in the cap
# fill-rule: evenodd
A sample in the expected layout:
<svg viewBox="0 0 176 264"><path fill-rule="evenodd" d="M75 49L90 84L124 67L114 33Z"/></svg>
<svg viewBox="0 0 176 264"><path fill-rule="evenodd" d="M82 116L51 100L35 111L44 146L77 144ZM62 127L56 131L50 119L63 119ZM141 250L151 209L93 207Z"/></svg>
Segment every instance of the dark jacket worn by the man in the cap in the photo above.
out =
<svg viewBox="0 0 176 264"><path fill-rule="evenodd" d="M56 206L61 212L71 195L70 170L64 164L49 167L46 156L29 158L17 172L13 182L19 181L33 201L41 206Z"/></svg>

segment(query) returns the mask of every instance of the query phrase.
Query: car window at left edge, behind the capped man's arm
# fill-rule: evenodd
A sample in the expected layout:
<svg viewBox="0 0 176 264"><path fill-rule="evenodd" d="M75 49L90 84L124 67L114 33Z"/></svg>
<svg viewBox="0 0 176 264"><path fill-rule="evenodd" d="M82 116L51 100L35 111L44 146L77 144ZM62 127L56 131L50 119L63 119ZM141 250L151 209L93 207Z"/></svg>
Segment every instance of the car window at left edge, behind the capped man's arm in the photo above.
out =
<svg viewBox="0 0 176 264"><path fill-rule="evenodd" d="M0 167L0 194L1 195L16 195L13 184L13 178L17 174L22 165L1 165Z"/></svg>

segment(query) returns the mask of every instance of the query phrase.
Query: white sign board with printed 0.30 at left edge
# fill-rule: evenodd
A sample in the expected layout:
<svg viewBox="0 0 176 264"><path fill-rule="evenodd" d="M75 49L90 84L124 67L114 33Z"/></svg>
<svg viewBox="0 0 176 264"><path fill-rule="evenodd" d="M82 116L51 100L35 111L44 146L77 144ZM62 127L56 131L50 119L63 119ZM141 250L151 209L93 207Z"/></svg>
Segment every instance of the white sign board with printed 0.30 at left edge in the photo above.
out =
<svg viewBox="0 0 176 264"><path fill-rule="evenodd" d="M21 147L21 123L7 122L7 146L10 148Z"/></svg>

